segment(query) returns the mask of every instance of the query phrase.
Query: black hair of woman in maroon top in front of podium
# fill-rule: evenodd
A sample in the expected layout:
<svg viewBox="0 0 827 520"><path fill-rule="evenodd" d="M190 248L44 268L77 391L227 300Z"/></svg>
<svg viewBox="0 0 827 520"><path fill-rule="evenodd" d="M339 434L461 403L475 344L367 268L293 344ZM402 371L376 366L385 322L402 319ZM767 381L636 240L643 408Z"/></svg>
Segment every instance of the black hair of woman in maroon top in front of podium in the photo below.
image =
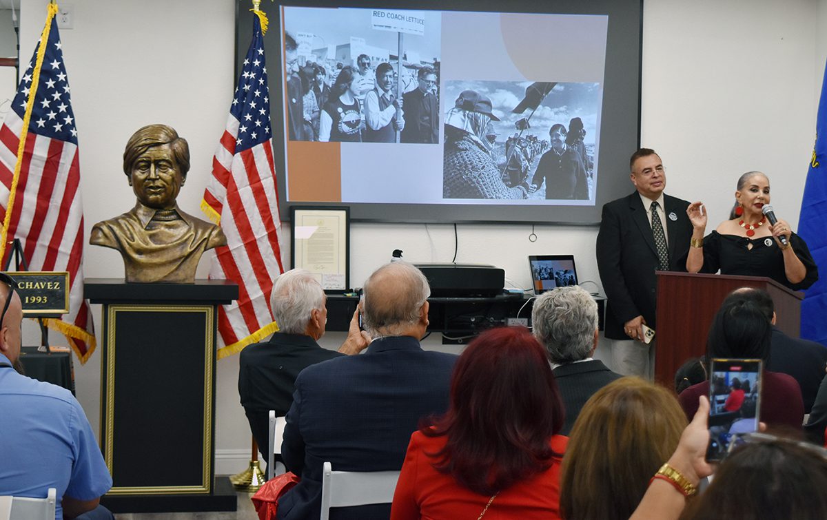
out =
<svg viewBox="0 0 827 520"><path fill-rule="evenodd" d="M772 325L758 305L747 300L724 301L712 318L706 360L756 358L766 364L771 338Z"/></svg>

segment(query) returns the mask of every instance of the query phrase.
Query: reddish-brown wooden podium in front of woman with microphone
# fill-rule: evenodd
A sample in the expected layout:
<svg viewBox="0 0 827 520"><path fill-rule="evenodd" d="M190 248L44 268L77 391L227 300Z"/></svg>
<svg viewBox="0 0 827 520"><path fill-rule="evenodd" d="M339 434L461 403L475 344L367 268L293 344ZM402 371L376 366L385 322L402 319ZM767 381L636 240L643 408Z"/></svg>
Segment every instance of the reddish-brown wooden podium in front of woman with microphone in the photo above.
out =
<svg viewBox="0 0 827 520"><path fill-rule="evenodd" d="M675 372L691 357L704 355L715 312L727 294L739 287L764 289L772 296L776 327L788 336L801 334L804 293L763 276L692 274L657 271L657 345L655 380L674 388Z"/></svg>

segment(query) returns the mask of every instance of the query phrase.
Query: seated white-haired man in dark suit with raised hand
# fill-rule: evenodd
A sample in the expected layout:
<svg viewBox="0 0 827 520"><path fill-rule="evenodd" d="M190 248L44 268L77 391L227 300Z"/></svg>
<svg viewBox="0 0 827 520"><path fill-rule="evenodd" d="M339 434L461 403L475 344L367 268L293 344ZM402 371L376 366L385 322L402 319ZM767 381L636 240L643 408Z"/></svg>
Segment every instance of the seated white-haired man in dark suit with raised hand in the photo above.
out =
<svg viewBox="0 0 827 520"><path fill-rule="evenodd" d="M270 309L279 332L270 341L246 346L239 356L238 394L261 455L270 453L270 410L284 416L293 403L296 376L309 365L345 354L358 354L370 338L359 331L357 315L339 351L329 351L316 341L324 335L327 297L322 286L306 270L281 274L270 293Z"/></svg>

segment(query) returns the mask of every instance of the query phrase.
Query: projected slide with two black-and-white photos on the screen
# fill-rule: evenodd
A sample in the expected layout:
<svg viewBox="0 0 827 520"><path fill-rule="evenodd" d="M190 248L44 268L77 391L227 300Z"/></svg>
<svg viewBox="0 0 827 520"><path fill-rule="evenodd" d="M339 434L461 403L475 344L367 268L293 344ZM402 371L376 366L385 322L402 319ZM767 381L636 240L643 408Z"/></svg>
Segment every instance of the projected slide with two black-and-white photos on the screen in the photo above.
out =
<svg viewBox="0 0 827 520"><path fill-rule="evenodd" d="M282 13L289 203L595 205L607 16Z"/></svg>

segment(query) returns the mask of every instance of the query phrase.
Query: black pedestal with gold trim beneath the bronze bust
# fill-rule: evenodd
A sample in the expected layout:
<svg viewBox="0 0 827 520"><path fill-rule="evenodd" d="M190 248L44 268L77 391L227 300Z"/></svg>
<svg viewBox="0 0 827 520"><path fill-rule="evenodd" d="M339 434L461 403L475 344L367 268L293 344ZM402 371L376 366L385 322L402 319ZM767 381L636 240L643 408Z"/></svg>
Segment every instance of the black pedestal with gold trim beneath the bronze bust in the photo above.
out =
<svg viewBox="0 0 827 520"><path fill-rule="evenodd" d="M238 286L86 279L84 295L103 303L103 502L121 513L234 510L235 496L218 507L227 500L213 489L214 365L218 305Z"/></svg>

